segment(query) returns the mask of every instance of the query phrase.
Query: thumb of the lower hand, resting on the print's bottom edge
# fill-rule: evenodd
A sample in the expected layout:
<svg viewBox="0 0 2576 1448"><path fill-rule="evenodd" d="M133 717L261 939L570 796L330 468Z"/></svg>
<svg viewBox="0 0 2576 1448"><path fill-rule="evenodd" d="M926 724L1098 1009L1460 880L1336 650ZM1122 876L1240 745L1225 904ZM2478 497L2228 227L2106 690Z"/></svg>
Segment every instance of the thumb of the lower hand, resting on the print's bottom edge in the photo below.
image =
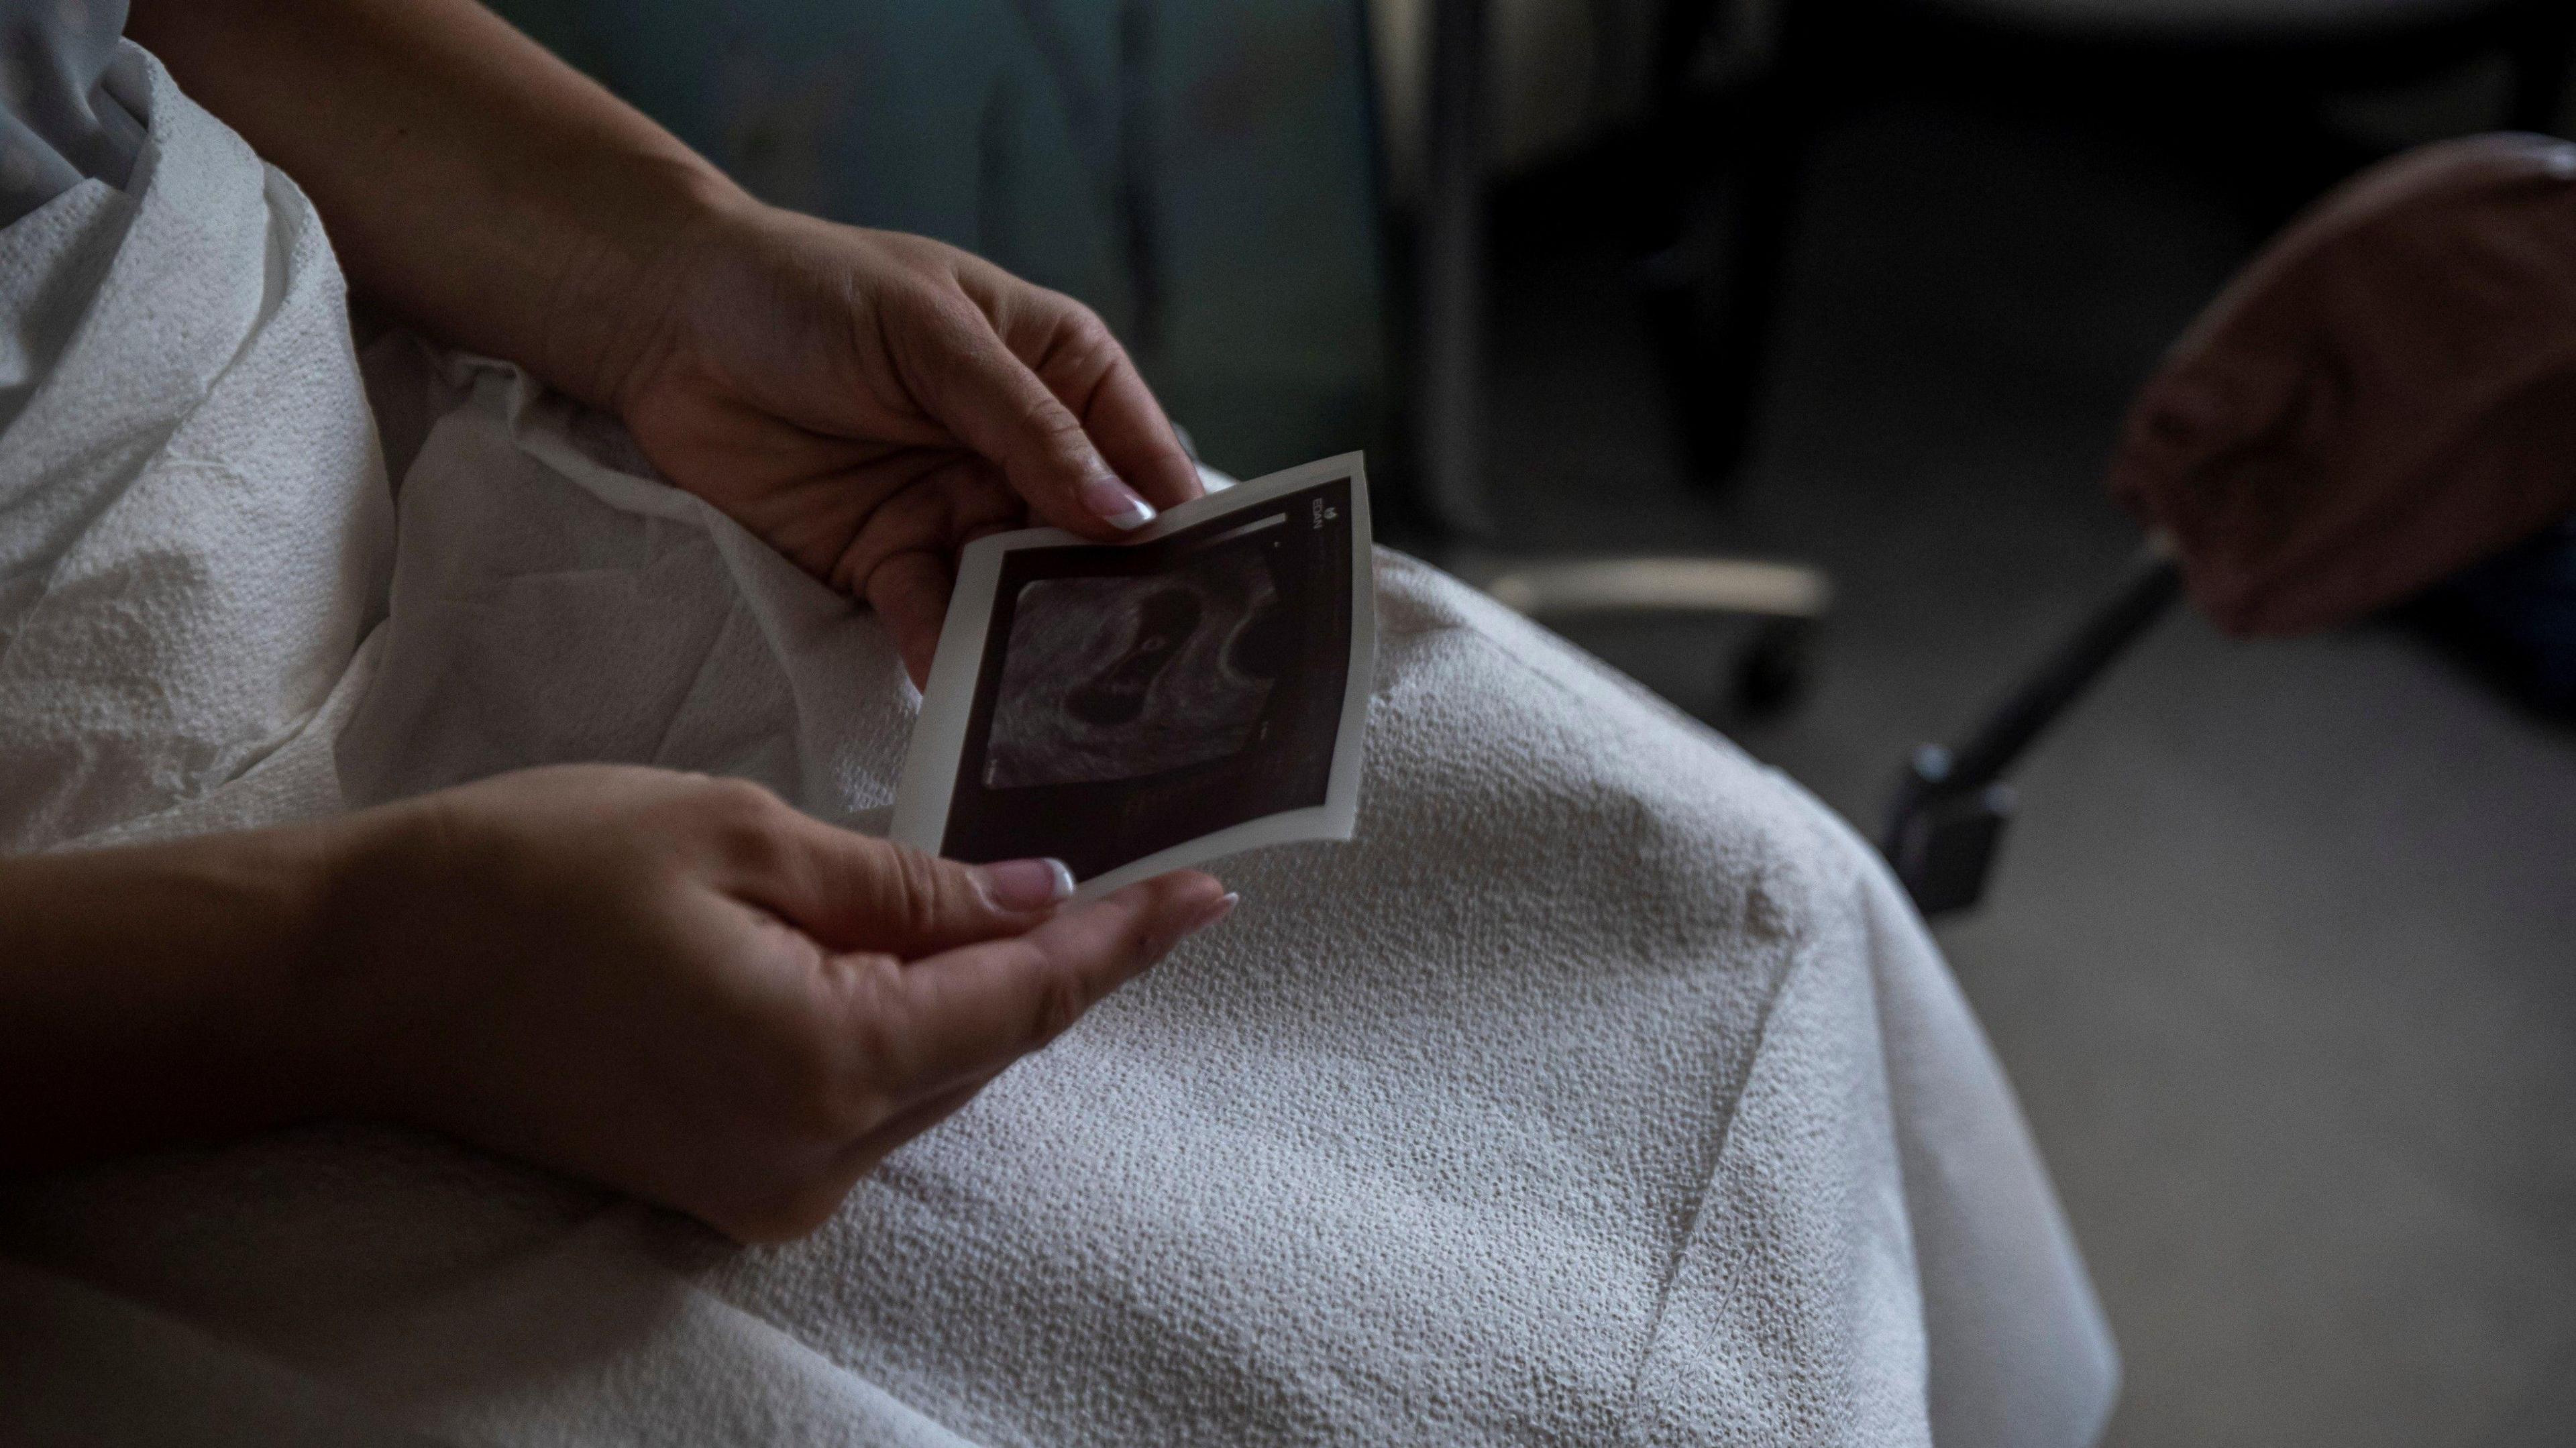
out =
<svg viewBox="0 0 2576 1448"><path fill-rule="evenodd" d="M966 866L796 814L770 871L739 894L827 951L902 958L1015 935L1074 894L1064 861Z"/></svg>

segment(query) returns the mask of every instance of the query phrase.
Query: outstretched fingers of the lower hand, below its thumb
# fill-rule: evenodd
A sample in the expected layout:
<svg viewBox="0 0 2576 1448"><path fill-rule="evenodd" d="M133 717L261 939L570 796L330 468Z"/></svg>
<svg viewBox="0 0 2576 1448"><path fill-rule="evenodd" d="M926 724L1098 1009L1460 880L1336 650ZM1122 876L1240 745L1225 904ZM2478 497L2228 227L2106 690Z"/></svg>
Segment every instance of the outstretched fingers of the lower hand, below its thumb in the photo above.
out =
<svg viewBox="0 0 2576 1448"><path fill-rule="evenodd" d="M1046 925L904 966L871 1000L868 1036L914 1092L997 1072L1054 1041L1100 997L1234 910L1198 871L1131 884Z"/></svg>

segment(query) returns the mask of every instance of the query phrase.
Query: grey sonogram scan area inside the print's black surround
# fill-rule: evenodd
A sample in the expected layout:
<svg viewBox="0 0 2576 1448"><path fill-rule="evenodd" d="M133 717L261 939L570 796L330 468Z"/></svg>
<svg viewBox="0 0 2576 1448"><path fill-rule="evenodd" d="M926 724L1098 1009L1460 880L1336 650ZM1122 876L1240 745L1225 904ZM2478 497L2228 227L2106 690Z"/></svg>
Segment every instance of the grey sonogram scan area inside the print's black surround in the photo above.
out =
<svg viewBox="0 0 2576 1448"><path fill-rule="evenodd" d="M1257 544L1206 549L1159 575L1028 582L984 786L1121 781L1242 752L1260 737L1288 647Z"/></svg>

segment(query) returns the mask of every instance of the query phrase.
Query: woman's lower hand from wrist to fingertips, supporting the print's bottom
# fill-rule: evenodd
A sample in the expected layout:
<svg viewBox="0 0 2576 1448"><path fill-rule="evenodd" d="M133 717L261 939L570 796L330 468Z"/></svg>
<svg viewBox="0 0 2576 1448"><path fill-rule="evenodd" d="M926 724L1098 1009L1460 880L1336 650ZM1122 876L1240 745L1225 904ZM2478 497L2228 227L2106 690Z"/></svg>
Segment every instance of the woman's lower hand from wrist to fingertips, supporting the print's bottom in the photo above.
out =
<svg viewBox="0 0 2576 1448"><path fill-rule="evenodd" d="M1061 907L768 791L502 776L350 817L325 910L337 1105L688 1211L811 1232L896 1144L1234 904L1175 871Z"/></svg>

